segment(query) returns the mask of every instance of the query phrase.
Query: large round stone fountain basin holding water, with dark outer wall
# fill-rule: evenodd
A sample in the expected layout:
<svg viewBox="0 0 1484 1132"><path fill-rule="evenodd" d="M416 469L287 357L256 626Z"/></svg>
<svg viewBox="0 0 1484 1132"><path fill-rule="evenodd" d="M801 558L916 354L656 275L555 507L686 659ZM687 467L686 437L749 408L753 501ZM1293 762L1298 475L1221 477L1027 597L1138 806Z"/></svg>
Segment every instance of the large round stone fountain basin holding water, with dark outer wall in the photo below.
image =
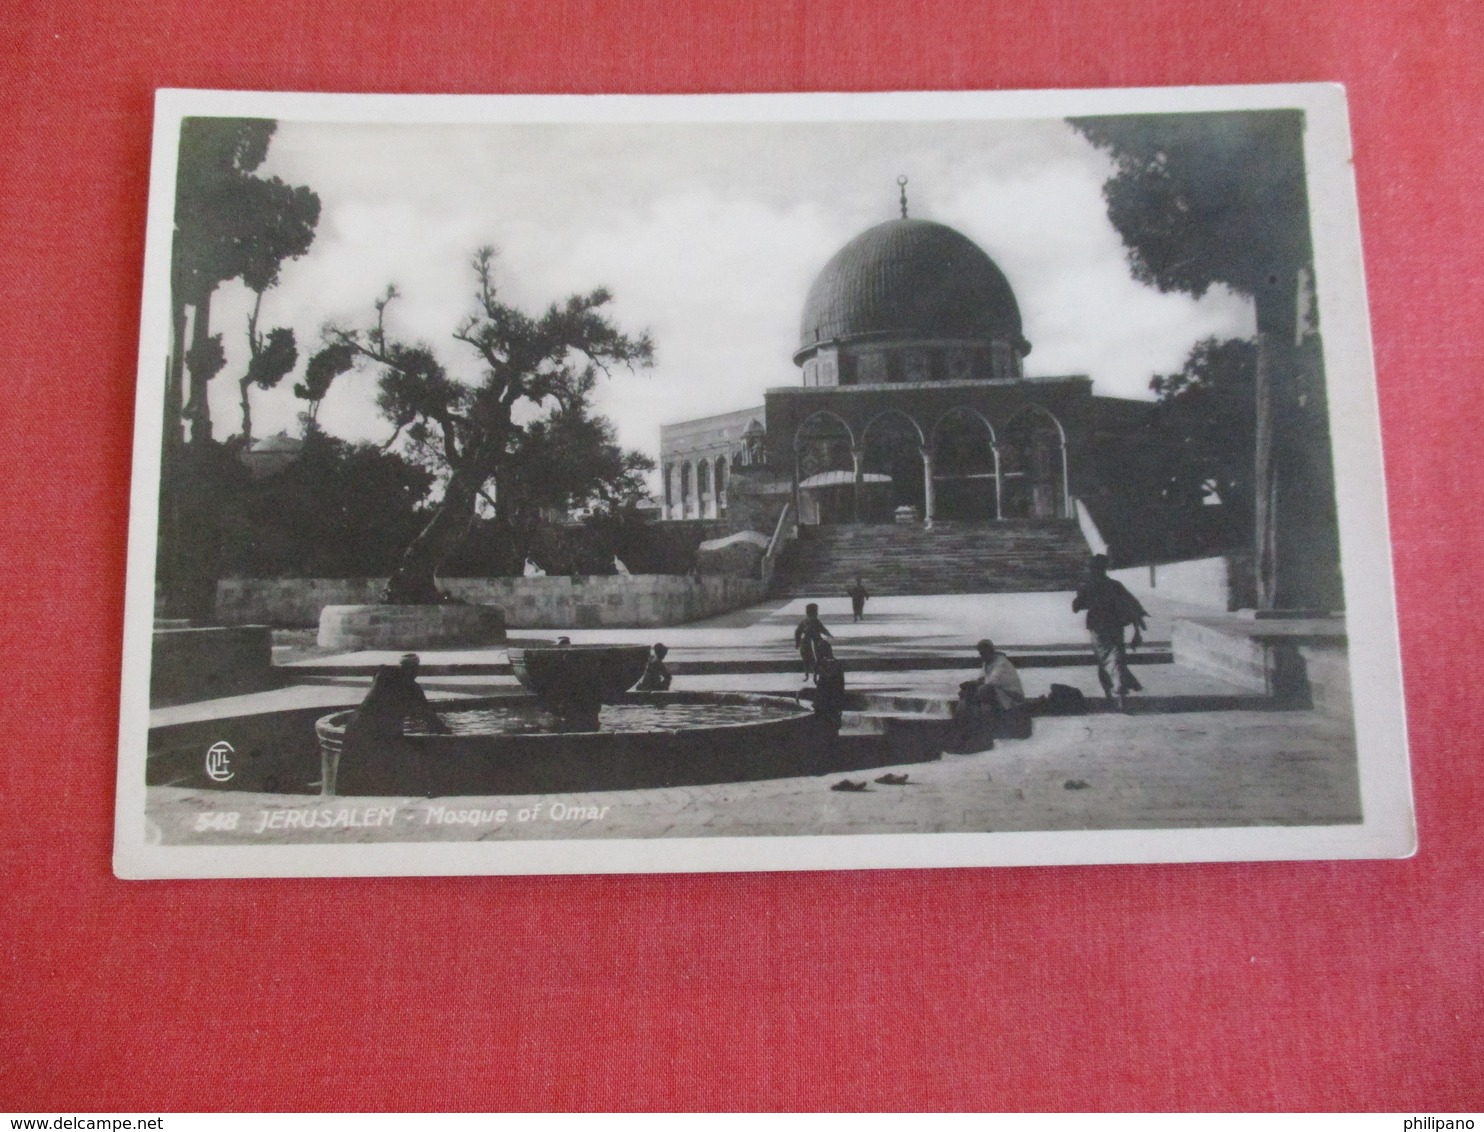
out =
<svg viewBox="0 0 1484 1132"><path fill-rule="evenodd" d="M837 730L778 696L620 693L597 731L571 730L533 696L493 696L441 703L450 734L407 733L347 751L352 715L315 725L326 794L576 794L819 774L831 767Z"/></svg>

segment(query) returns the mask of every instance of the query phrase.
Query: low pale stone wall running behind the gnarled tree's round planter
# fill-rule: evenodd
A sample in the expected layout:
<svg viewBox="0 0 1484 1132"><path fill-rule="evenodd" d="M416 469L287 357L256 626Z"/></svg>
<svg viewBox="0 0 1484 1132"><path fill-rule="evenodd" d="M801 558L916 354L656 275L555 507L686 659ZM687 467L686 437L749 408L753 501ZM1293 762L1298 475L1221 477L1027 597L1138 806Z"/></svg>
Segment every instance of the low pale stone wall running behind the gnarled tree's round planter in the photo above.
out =
<svg viewBox="0 0 1484 1132"><path fill-rule="evenodd" d="M227 579L217 583L226 625L315 628L326 605L370 605L384 579ZM459 601L499 605L509 629L643 629L715 617L764 598L757 579L629 574L592 577L453 577Z"/></svg>

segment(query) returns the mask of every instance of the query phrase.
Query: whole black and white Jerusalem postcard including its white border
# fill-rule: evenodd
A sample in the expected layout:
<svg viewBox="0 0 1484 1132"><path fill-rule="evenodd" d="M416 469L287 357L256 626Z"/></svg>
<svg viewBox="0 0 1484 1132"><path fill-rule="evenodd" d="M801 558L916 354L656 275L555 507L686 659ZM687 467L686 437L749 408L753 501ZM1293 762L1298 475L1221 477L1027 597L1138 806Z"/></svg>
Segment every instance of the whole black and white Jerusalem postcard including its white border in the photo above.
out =
<svg viewBox="0 0 1484 1132"><path fill-rule="evenodd" d="M122 877L1395 858L1336 86L157 95Z"/></svg>

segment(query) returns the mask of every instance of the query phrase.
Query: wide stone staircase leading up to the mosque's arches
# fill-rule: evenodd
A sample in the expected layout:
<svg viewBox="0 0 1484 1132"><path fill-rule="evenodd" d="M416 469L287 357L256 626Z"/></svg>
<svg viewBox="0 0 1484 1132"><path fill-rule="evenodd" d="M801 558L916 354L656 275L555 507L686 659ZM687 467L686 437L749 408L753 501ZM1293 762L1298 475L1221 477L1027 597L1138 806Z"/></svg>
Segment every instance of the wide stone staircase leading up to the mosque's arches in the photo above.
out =
<svg viewBox="0 0 1484 1132"><path fill-rule="evenodd" d="M1074 519L800 527L773 593L835 596L858 576L873 595L1068 590L1089 553Z"/></svg>

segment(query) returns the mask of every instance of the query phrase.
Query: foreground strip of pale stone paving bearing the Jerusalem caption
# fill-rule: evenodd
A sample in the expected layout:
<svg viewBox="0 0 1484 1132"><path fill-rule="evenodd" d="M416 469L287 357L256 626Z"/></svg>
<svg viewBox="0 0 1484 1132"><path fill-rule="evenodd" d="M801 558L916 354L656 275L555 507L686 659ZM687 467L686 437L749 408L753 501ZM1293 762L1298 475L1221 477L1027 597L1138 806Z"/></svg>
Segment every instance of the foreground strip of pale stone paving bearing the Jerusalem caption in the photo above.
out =
<svg viewBox="0 0 1484 1132"><path fill-rule="evenodd" d="M876 783L883 773L905 786ZM1330 825L1359 820L1347 727L1315 712L1098 714L1037 720L1027 740L841 774L720 786L485 798L321 798L151 788L166 844L748 837ZM519 815L539 810L527 820ZM264 828L263 813L393 810L384 825ZM197 815L242 813L191 834ZM505 817L499 819L497 815ZM447 822L447 823L445 823Z"/></svg>

